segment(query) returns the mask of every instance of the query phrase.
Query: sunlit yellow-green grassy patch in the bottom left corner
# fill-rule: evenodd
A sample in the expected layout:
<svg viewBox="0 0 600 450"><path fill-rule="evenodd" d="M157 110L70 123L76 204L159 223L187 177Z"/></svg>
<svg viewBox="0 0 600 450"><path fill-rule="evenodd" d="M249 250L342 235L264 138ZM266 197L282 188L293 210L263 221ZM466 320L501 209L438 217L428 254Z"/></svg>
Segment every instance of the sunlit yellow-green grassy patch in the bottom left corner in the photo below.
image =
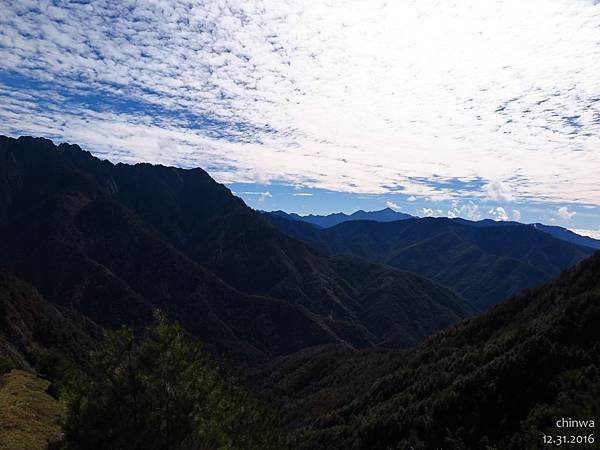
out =
<svg viewBox="0 0 600 450"><path fill-rule="evenodd" d="M0 377L0 450L41 450L61 436L65 406L46 393L49 384L22 370Z"/></svg>

